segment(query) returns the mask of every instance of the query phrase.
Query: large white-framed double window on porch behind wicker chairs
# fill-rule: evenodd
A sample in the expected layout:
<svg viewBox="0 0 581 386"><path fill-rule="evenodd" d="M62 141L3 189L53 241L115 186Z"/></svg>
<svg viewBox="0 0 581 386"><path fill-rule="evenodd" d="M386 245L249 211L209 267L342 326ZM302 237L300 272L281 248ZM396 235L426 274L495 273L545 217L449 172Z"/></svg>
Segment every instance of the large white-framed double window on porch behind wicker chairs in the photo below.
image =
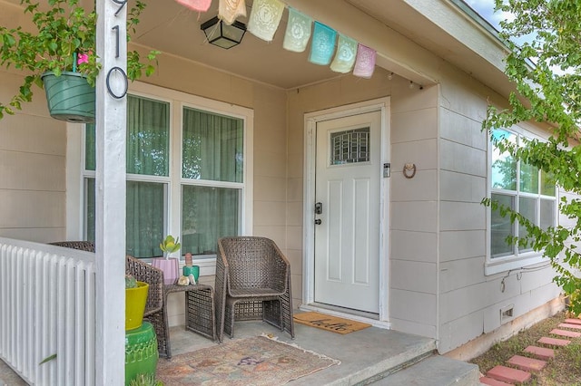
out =
<svg viewBox="0 0 581 386"><path fill-rule="evenodd" d="M168 234L179 234L182 255L213 256L219 237L242 233L242 215L249 211L244 207L251 202L245 199L248 120L204 109L178 94L186 101L128 95L126 246L132 256L162 256L159 245ZM94 240L94 146L95 128L88 124L84 159L88 240Z"/></svg>

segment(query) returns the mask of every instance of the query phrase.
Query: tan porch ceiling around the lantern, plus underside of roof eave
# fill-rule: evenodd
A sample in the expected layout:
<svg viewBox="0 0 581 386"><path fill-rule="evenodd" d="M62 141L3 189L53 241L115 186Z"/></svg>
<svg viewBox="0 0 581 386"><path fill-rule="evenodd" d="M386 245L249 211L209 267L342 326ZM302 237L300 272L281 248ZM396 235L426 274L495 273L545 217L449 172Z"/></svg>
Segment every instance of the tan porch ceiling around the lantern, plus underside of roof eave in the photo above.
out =
<svg viewBox="0 0 581 386"><path fill-rule="evenodd" d="M317 0L320 1L320 0ZM212 0L210 10L198 14L179 5L175 1L148 1L141 17L142 23L136 34L135 43L154 47L163 53L170 53L204 63L212 68L231 72L254 81L263 82L285 90L311 83L323 82L340 76L331 72L329 66L319 66L308 62L309 48L304 53L291 53L282 48L287 14L274 40L267 43L253 34L245 34L242 43L230 50L223 50L204 41L200 24L218 13L218 0ZM294 0L290 4L296 3ZM352 12L369 14L370 17L386 24L410 40L419 43L429 51L437 53L450 63L472 74L482 72L482 81L490 82L497 68L487 63L477 53L459 43L441 26L428 20L412 5L413 1L390 0L332 0L334 7L351 8ZM252 0L246 0L247 14L250 15ZM241 17L243 23L247 17ZM391 70L388 68L388 70ZM394 71L397 73L397 71ZM496 72L496 73L493 73ZM478 76L475 75L475 76ZM495 87L496 88L496 87Z"/></svg>

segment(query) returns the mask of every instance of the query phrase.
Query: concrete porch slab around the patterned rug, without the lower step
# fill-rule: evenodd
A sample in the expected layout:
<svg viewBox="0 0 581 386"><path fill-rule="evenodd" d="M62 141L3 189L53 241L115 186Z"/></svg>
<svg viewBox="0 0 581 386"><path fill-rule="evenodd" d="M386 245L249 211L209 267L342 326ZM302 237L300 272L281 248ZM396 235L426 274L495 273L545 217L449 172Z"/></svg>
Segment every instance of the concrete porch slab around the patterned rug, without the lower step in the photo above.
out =
<svg viewBox="0 0 581 386"><path fill-rule="evenodd" d="M397 367L401 363L430 354L436 347L431 339L377 327L369 327L344 335L300 323L295 323L294 328L295 339L292 340L288 333L282 333L268 323L236 322L233 339L258 336L262 333L271 334L278 337L280 342L294 343L302 349L340 361L340 365L330 366L330 368L289 383L309 386L357 384L387 369ZM181 327L172 328L170 336L172 355L216 344L200 335L186 332ZM224 343L228 341L230 337L224 335ZM165 361L165 359L161 358L160 361Z"/></svg>

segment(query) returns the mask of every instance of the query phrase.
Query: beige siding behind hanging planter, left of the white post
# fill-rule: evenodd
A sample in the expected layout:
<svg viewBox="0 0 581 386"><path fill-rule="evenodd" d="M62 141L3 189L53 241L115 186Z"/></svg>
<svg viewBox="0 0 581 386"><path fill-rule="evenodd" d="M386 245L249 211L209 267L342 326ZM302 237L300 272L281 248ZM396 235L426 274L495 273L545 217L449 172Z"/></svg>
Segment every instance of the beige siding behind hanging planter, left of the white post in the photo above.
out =
<svg viewBox="0 0 581 386"><path fill-rule="evenodd" d="M0 98L18 90L21 77L0 70ZM0 236L31 241L64 237L64 122L48 116L44 91L0 121Z"/></svg>

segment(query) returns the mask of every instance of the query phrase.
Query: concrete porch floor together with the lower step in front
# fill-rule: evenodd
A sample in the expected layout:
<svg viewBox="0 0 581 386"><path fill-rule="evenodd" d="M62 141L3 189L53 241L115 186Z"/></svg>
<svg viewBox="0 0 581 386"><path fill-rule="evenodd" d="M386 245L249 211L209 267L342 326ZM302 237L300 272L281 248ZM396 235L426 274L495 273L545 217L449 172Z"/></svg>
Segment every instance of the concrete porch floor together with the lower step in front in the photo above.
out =
<svg viewBox="0 0 581 386"><path fill-rule="evenodd" d="M434 362L434 358L438 358L438 361L442 361L443 358L433 355L436 348L434 340L417 335L399 333L377 327L369 327L355 333L342 335L295 323L296 338L291 340L287 333L281 333L280 330L270 324L257 321L235 323L235 337L233 339L258 336L262 333L277 336L281 342L294 343L302 349L324 354L340 361L340 365L334 365L320 372L291 381L289 385L373 384L387 386L406 384L443 386L448 384L479 384L478 368L474 369L474 365L448 359L444 360L446 362ZM228 336L224 337L224 343L229 340ZM172 343L173 356L217 344L197 333L186 331L183 326L171 328L170 342ZM160 358L160 361L166 360ZM450 361L454 362L454 365L451 366ZM419 363L412 368L408 368L408 370L411 370L407 372L408 374L406 374L406 371L397 372L415 362ZM420 368L426 366L422 363L428 363L428 373L424 375L421 374ZM464 376L466 380L458 382L460 376L456 373L456 368L454 369L454 374L451 374L451 378L448 377L447 373L450 372L450 368L454 367L458 368L460 372L470 373L468 378ZM415 369L418 370L416 371ZM394 374L390 375L392 373ZM441 381L437 381L438 373L446 375L446 380L442 378ZM401 379L402 376L404 377L403 380ZM448 378L450 378L449 381ZM401 383L402 381L403 383ZM0 385L5 384L20 386L26 383L18 378L15 372L12 372L4 362L0 361Z"/></svg>

